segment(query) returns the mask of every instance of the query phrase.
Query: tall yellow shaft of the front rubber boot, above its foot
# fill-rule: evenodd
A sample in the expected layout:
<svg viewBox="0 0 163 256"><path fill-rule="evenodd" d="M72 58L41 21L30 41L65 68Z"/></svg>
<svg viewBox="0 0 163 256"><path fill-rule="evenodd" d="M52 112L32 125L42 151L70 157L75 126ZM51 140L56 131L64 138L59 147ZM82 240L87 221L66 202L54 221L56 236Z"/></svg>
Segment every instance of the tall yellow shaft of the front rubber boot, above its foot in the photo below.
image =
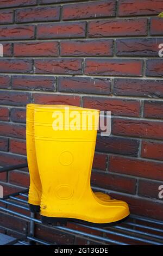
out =
<svg viewBox="0 0 163 256"><path fill-rule="evenodd" d="M90 187L99 111L76 107L71 107L69 113L66 111L64 106L35 108L35 145L43 184L43 207L47 198L55 198L59 204L65 204L65 200L68 204L77 202ZM75 112L80 119L76 119L76 129L71 123ZM69 124L65 123L67 115ZM56 118L60 122L55 122ZM90 123L89 118L92 118Z"/></svg>

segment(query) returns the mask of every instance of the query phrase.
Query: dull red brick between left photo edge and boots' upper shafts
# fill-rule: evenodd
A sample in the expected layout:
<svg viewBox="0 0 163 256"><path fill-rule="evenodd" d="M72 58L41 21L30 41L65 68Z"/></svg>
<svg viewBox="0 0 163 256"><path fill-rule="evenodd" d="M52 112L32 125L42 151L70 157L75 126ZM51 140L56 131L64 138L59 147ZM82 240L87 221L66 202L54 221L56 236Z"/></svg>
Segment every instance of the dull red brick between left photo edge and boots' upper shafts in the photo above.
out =
<svg viewBox="0 0 163 256"><path fill-rule="evenodd" d="M26 126L20 124L12 124L12 123L0 123L0 135L1 136L9 136L9 137L17 137L17 138L25 138L26 137ZM10 156L10 155L9 155ZM8 157L9 157L8 156Z"/></svg>

